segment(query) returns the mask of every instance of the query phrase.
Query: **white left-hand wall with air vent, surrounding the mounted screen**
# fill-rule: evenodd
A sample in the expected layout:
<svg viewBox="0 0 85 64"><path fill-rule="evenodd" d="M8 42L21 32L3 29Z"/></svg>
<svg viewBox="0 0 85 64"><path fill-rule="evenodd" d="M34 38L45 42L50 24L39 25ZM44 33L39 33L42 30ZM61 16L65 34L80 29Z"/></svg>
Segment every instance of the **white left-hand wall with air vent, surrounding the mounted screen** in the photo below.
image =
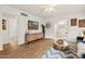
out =
<svg viewBox="0 0 85 64"><path fill-rule="evenodd" d="M20 12L28 14L28 16L22 16ZM1 29L2 18L5 18L8 21L6 30ZM41 33L42 21L40 17L8 5L0 5L0 49L2 49L2 44L9 43L11 39L14 39L15 35L16 35L16 40L18 44L25 43L25 34L26 34L26 30L28 30L28 27L27 27L28 20L39 22L40 24L39 30L33 30L31 33ZM13 33L12 28L15 28L13 27L13 25L10 24L12 21L16 22L15 24L17 25L17 34L12 34ZM11 26L12 28L10 28Z"/></svg>

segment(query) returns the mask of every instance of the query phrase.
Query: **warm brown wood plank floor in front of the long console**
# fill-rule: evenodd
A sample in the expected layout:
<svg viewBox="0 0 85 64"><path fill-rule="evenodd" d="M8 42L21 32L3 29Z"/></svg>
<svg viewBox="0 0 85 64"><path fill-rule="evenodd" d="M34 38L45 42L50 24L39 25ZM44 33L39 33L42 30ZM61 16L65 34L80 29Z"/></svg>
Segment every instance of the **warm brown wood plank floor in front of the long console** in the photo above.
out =
<svg viewBox="0 0 85 64"><path fill-rule="evenodd" d="M41 57L51 47L53 47L51 39L40 39L16 47L9 44L4 51L0 52L0 59L37 59Z"/></svg>

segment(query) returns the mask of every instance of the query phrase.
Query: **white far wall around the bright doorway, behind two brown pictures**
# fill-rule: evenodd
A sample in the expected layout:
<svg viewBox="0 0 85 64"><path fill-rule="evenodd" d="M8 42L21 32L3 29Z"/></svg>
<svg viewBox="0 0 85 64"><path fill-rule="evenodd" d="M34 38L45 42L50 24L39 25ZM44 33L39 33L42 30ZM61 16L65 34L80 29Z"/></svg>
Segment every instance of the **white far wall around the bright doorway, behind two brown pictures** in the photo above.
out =
<svg viewBox="0 0 85 64"><path fill-rule="evenodd" d="M70 14L65 14L65 15L60 15L60 16L56 16L56 17L53 17L53 18L49 18L48 21L51 22L52 24L52 27L51 29L46 29L46 38L53 38L54 35L55 35L55 27L54 25L58 24L60 21L67 21L67 26L68 26L68 34L67 34L67 37L68 37L68 40L70 39L71 41L75 40L75 37L81 35L82 30L84 28L79 28L77 26L70 26L70 20L71 18L85 18L85 12L80 12L80 13L70 13Z"/></svg>

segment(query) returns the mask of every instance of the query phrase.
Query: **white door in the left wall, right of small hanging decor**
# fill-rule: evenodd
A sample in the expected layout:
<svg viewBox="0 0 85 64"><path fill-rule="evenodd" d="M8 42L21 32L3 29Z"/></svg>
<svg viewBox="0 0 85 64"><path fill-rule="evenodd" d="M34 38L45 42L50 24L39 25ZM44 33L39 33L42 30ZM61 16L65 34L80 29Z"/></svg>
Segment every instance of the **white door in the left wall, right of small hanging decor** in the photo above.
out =
<svg viewBox="0 0 85 64"><path fill-rule="evenodd" d="M9 26L10 27L10 42L11 41L17 42L18 21L17 18L9 18L9 22L10 22L10 26Z"/></svg>

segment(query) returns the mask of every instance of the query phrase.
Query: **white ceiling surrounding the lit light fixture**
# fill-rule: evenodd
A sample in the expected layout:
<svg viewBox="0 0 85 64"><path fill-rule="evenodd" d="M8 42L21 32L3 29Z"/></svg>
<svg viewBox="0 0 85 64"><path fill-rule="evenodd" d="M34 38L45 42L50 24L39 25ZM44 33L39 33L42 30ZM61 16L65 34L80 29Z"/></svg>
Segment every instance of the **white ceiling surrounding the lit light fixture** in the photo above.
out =
<svg viewBox="0 0 85 64"><path fill-rule="evenodd" d="M30 14L34 14L39 17L51 18L62 14L84 12L85 4L56 4L51 13L44 12L44 8L47 4L10 4L10 7L26 11Z"/></svg>

